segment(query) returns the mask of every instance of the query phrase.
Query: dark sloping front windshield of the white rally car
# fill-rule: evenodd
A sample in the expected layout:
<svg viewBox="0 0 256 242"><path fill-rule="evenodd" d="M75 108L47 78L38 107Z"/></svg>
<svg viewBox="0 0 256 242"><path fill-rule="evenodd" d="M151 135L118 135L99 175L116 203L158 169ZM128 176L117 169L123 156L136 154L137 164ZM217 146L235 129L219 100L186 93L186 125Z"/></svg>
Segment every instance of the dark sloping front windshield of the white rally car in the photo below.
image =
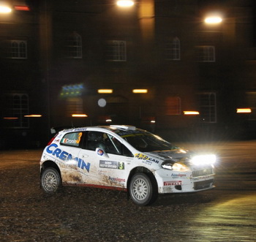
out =
<svg viewBox="0 0 256 242"><path fill-rule="evenodd" d="M143 130L136 130L136 132L129 132L129 134L118 134L124 140L141 152L151 151L169 151L178 149L175 145L168 143L157 135Z"/></svg>

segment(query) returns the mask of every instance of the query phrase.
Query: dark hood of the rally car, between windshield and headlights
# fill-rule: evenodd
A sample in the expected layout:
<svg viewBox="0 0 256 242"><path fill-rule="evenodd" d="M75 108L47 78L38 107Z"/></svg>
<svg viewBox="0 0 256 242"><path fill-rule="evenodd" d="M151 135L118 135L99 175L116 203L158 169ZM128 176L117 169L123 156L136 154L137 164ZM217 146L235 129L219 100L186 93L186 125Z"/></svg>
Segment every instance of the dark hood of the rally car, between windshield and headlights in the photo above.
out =
<svg viewBox="0 0 256 242"><path fill-rule="evenodd" d="M191 152L184 149L176 149L169 151L152 151L146 152L146 154L148 156L154 156L154 158L157 159L172 159L175 161L184 157L189 157Z"/></svg>

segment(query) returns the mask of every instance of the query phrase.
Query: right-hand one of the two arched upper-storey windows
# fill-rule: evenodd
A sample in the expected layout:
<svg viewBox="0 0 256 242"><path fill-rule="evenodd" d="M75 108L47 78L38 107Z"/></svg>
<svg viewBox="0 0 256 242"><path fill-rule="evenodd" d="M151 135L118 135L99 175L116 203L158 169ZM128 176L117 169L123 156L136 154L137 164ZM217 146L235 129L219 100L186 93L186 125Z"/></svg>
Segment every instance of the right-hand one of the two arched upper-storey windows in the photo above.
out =
<svg viewBox="0 0 256 242"><path fill-rule="evenodd" d="M165 45L165 60L179 61L181 60L181 44L178 37L170 39Z"/></svg>

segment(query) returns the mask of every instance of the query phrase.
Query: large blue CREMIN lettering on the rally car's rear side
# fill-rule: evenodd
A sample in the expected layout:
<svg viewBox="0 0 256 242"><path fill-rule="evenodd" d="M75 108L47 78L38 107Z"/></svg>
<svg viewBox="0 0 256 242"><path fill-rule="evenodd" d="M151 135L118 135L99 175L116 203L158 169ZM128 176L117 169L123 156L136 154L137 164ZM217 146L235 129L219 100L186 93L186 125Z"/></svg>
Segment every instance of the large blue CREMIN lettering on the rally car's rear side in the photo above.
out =
<svg viewBox="0 0 256 242"><path fill-rule="evenodd" d="M69 154L66 151L62 151L60 148L58 148L58 145L51 144L46 148L46 152L48 154L51 154L52 156L56 156L57 158L61 159L64 162L68 162L69 160L75 160L77 162L77 166L82 170L87 170L89 172L91 163L84 162L83 159L80 159L78 157L72 156L72 154Z"/></svg>

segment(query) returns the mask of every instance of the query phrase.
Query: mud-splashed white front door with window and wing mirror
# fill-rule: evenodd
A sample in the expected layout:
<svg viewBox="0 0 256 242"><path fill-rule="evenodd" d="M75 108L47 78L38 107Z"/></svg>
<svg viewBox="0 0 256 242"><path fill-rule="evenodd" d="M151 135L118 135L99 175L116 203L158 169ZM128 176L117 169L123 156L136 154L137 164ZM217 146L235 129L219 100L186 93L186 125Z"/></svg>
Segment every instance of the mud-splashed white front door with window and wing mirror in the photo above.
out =
<svg viewBox="0 0 256 242"><path fill-rule="evenodd" d="M124 188L127 182L132 153L108 132L86 132L86 142L80 158L90 164L89 175L83 175L85 183L98 186Z"/></svg>

